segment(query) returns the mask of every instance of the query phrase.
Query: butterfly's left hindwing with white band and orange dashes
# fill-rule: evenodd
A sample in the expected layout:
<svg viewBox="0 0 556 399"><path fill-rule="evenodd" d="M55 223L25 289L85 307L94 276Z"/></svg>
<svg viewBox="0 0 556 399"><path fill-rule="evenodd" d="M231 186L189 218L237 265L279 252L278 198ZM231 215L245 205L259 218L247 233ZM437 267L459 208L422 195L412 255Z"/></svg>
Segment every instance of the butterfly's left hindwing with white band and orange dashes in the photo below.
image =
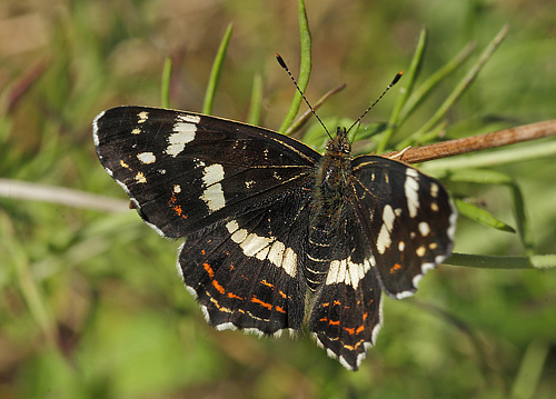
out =
<svg viewBox="0 0 556 399"><path fill-rule="evenodd" d="M307 205L300 189L186 241L178 267L210 325L262 335L300 329Z"/></svg>

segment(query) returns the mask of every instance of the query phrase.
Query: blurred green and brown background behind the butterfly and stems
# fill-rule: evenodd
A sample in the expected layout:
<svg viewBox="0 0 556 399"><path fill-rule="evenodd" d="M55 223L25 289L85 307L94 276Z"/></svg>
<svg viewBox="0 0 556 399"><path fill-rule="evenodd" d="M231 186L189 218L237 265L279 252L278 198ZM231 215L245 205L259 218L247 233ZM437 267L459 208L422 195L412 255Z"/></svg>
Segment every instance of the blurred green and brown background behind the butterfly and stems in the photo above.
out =
<svg viewBox="0 0 556 399"><path fill-rule="evenodd" d="M556 116L553 0L307 0L314 69L307 97L347 82L320 110L357 118L428 29L420 79L470 41L405 129L419 127L505 23L510 32L447 116L446 137ZM214 114L246 120L262 77L260 124L277 129L297 74L297 2L284 0L0 3L0 178L117 198L91 121L111 106L160 104L166 57L172 108L200 111L209 70L234 22ZM400 87L403 88L403 82ZM367 119L387 120L393 90ZM314 121L311 121L314 123ZM334 127L332 127L334 129ZM403 133L403 132L400 132ZM553 142L554 139L545 140ZM527 144L518 144L527 146ZM430 162L433 163L433 162ZM535 253L556 253L554 157L492 168L524 193ZM509 190L448 184L515 227ZM56 190L54 190L56 191ZM556 275L441 266L416 297L385 299L385 326L358 372L302 333L257 339L207 326L165 241L133 211L0 198L0 399L3 398L553 398ZM460 218L456 251L524 253L517 235Z"/></svg>

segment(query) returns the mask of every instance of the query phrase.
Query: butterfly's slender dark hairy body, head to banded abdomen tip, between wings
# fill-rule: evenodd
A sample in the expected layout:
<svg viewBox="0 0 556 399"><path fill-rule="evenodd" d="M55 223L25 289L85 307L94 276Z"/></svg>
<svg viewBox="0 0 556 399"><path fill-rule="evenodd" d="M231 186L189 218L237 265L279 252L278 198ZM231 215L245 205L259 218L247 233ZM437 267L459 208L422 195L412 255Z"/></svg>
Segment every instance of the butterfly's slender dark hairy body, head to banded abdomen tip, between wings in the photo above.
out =
<svg viewBox="0 0 556 399"><path fill-rule="evenodd" d="M326 278L330 261L341 256L334 253L330 243L335 242L346 220L346 194L351 173L351 144L346 134L345 129L338 128L336 137L328 141L326 152L317 163L306 267L311 290L316 290Z"/></svg>

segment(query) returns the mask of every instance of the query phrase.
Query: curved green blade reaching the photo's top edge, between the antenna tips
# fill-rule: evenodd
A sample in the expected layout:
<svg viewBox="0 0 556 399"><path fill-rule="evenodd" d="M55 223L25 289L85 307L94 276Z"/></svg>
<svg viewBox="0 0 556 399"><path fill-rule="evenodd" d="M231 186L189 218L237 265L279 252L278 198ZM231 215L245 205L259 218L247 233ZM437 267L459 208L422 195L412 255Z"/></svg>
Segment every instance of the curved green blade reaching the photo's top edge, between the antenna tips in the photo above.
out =
<svg viewBox="0 0 556 399"><path fill-rule="evenodd" d="M304 0L298 0L298 13L299 13L299 33L301 42L301 62L299 64L299 78L297 84L299 89L305 92L307 84L309 83L309 77L311 74L311 36L309 31L309 21L307 19L307 12L305 10ZM294 100L289 107L286 118L280 126L278 131L285 132L294 122L297 111L299 110L299 104L301 103L301 94L296 90L294 94Z"/></svg>

